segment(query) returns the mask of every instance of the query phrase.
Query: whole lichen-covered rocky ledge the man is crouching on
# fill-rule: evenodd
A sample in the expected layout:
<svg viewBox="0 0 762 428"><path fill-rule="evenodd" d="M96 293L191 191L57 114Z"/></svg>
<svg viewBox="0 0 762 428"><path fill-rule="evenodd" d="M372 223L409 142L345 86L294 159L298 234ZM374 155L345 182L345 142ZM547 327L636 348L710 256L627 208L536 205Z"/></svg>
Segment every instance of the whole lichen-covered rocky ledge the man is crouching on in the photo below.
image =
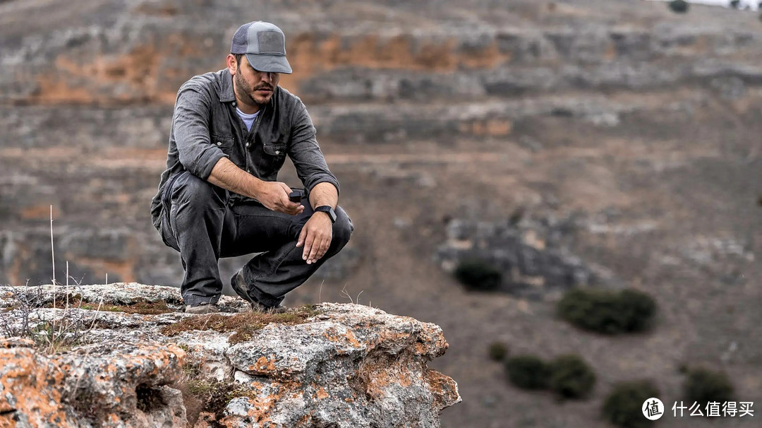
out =
<svg viewBox="0 0 762 428"><path fill-rule="evenodd" d="M3 426L440 426L431 323L357 304L182 313L177 288L0 287Z"/></svg>

